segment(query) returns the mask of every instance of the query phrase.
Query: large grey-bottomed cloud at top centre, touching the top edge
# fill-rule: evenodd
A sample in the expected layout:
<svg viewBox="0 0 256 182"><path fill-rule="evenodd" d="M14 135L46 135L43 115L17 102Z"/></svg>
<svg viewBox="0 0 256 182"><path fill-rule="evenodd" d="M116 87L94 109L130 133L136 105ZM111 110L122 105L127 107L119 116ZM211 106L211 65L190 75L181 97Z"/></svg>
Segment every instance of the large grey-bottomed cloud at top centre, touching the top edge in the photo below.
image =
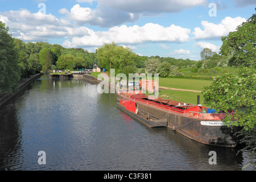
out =
<svg viewBox="0 0 256 182"><path fill-rule="evenodd" d="M94 0L76 0L79 3ZM127 22L135 22L141 16L159 16L162 13L177 13L192 7L205 5L207 0L97 0L96 9L81 7L79 4L71 10L61 9L59 13L77 24L91 24L100 27L113 27Z"/></svg>

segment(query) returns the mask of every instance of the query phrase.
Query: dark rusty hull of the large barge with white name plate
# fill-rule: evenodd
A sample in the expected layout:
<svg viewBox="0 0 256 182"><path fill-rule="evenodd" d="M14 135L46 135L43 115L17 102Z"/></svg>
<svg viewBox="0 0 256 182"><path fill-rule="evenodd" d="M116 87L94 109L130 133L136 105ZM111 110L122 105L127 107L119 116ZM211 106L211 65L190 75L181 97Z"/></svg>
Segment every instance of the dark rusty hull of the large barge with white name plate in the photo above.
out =
<svg viewBox="0 0 256 182"><path fill-rule="evenodd" d="M125 97L127 98L127 96ZM122 98L123 96L117 94L118 100ZM167 127L197 142L220 147L237 146L237 139L234 133L238 128L224 126L221 120L209 119L207 115L210 116L210 114L201 114L201 117L189 117L189 114L173 113L139 100L135 100L135 104L138 110L149 113L159 119L166 119ZM211 122L217 124L207 124Z"/></svg>

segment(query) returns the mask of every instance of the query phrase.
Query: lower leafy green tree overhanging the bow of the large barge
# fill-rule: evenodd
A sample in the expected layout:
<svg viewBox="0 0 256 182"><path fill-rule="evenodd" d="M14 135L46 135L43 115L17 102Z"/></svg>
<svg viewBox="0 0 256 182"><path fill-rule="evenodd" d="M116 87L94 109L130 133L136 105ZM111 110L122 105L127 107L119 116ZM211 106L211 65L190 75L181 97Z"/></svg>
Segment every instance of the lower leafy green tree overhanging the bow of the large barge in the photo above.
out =
<svg viewBox="0 0 256 182"><path fill-rule="evenodd" d="M256 72L241 68L238 75L226 73L203 91L204 103L217 112L229 112L224 118L228 126L242 126L245 130L256 127ZM236 119L234 121L232 118Z"/></svg>

